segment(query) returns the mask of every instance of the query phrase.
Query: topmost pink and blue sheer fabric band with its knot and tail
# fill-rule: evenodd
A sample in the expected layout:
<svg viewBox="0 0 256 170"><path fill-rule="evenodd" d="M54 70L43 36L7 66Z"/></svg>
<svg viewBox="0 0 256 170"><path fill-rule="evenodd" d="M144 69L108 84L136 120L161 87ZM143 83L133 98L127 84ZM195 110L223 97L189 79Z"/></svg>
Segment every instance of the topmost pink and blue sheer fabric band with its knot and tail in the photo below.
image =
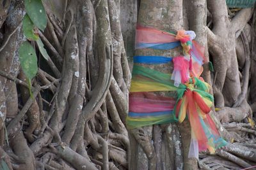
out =
<svg viewBox="0 0 256 170"><path fill-rule="evenodd" d="M166 32L138 25L136 27L135 49L170 50L182 46L185 57L191 55L195 62L202 65L205 60L204 48L193 41L194 38L195 32L193 31Z"/></svg>

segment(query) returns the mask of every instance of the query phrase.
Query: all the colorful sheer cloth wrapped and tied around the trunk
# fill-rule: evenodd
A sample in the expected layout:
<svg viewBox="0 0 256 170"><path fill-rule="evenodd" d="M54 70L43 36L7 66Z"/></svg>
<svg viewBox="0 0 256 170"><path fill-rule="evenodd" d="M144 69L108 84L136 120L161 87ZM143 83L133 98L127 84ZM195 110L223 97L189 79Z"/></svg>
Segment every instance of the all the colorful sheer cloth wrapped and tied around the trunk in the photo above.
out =
<svg viewBox="0 0 256 170"><path fill-rule="evenodd" d="M154 124L183 122L191 125L189 157L198 158L198 152L225 146L211 116L213 96L200 74L204 63L204 48L192 39L193 31L166 32L138 26L136 49L154 48L170 50L182 46L184 56L135 56L129 94L129 129ZM145 67L143 64L168 64L173 62L173 73L166 74ZM159 96L154 92L170 92Z"/></svg>

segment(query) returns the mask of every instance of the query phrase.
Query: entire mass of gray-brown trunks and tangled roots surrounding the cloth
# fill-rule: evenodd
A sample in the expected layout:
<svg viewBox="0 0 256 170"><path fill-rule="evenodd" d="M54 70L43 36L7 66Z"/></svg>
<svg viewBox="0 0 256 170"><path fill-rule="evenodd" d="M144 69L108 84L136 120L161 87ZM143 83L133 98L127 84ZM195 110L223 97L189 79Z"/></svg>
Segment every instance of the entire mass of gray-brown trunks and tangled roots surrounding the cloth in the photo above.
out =
<svg viewBox="0 0 256 170"><path fill-rule="evenodd" d="M19 60L26 41L24 0L0 1L0 169L243 169L256 164L256 12L223 0L42 0L47 27L36 32L38 72ZM210 114L229 143L188 159L190 125L127 130L136 24L196 32L205 47L202 76L215 97ZM209 62L213 63L211 71ZM172 64L149 66L172 73ZM157 92L165 94L166 92Z"/></svg>

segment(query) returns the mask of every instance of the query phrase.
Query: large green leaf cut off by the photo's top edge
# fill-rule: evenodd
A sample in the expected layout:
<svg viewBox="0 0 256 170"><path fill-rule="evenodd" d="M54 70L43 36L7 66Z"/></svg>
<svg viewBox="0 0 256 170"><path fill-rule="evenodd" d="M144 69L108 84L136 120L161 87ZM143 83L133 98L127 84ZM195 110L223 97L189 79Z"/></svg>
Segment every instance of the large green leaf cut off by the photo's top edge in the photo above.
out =
<svg viewBox="0 0 256 170"><path fill-rule="evenodd" d="M28 13L29 17L31 18L32 22L36 25L36 27L44 31L47 24L47 18L42 1L25 0L25 8L26 12Z"/></svg>

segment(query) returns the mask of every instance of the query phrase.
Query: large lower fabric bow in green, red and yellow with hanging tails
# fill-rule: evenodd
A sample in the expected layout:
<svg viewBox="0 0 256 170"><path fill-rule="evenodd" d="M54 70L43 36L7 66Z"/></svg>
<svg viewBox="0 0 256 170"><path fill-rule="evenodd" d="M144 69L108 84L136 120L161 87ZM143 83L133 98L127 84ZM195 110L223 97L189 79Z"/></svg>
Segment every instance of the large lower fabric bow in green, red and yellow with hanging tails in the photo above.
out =
<svg viewBox="0 0 256 170"><path fill-rule="evenodd" d="M191 125L191 140L196 139L196 143L202 146L199 150L207 148L211 153L214 153L215 138L213 138L214 136L211 137L212 132L208 132L209 130L205 128L204 122L205 120L207 122L212 121L207 115L211 111L213 102L213 96L208 93L209 85L198 78L191 78L185 85L186 88L177 90L178 99L174 108L175 117L177 121L182 123L188 115ZM218 131L214 130L214 134L218 134Z"/></svg>

